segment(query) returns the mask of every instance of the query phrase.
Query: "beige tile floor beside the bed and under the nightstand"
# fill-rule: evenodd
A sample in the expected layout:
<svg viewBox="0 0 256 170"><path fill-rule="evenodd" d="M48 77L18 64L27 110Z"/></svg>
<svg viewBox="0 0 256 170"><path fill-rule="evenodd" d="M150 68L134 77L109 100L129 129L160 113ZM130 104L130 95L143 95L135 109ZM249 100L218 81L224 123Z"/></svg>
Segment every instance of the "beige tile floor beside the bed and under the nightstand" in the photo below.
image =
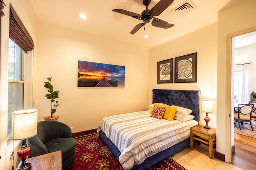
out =
<svg viewBox="0 0 256 170"><path fill-rule="evenodd" d="M208 146L194 144L193 149L187 147L176 153L172 159L187 170L242 170L237 166L216 159L214 150L212 159L208 155Z"/></svg>

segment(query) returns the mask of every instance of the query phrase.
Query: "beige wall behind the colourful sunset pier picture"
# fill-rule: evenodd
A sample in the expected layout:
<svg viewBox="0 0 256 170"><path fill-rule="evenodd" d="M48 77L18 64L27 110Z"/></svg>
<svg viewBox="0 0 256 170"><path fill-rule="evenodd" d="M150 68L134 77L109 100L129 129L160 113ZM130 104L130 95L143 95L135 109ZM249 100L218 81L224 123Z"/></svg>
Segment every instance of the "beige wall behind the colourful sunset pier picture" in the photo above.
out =
<svg viewBox="0 0 256 170"><path fill-rule="evenodd" d="M45 23L38 25L34 62L34 101L38 119L50 115L44 82L59 90L56 115L73 132L96 129L109 115L148 107L148 51ZM78 60L125 66L124 88L78 88Z"/></svg>

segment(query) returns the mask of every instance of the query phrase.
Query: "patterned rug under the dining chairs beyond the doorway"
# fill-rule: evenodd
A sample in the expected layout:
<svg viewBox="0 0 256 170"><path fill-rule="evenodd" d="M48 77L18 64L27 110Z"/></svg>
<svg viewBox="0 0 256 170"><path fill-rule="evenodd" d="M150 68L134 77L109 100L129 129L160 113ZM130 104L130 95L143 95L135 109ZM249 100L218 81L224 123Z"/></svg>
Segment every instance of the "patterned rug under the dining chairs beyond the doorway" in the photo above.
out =
<svg viewBox="0 0 256 170"><path fill-rule="evenodd" d="M236 122L236 124L234 124L234 133L239 133L240 135L256 138L256 121L254 120L252 121L252 127L254 131L252 131L250 122L246 122L246 123L249 123L249 124L244 123L244 125L240 125L241 126L241 130L240 130L238 126L238 122Z"/></svg>

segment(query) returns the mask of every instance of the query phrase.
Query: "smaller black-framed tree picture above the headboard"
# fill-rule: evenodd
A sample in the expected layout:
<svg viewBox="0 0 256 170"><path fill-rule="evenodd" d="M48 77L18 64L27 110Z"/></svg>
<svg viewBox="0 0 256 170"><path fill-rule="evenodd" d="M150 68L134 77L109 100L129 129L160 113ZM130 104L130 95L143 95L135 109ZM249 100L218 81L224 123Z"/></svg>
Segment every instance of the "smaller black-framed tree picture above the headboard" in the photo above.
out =
<svg viewBox="0 0 256 170"><path fill-rule="evenodd" d="M157 62L157 83L173 83L173 59Z"/></svg>

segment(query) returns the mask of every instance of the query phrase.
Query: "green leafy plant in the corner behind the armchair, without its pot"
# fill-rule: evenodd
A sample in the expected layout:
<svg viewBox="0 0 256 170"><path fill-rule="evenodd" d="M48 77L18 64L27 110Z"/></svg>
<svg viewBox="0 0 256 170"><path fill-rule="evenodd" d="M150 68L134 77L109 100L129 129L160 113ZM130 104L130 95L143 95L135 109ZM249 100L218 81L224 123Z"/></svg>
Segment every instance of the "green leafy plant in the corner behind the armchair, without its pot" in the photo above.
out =
<svg viewBox="0 0 256 170"><path fill-rule="evenodd" d="M48 81L50 82L44 82L44 87L49 89L48 90L48 94L45 95L46 99L49 99L51 100L51 118L53 118L53 114L56 112L56 107L60 106L58 104L58 101L55 101L55 99L59 98L59 91L54 91L53 90L53 86L51 84L51 81L52 81L52 77L48 77L47 78ZM54 102L56 102L56 104L54 104Z"/></svg>

